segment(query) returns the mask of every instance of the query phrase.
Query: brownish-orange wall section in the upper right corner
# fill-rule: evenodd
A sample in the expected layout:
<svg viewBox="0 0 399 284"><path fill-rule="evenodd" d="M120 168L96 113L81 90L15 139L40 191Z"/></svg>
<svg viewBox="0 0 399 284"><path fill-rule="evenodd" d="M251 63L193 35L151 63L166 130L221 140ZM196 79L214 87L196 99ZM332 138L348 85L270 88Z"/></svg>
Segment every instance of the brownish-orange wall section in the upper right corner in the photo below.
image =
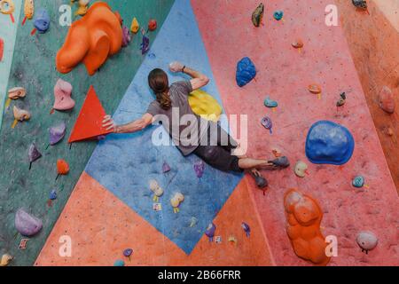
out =
<svg viewBox="0 0 399 284"><path fill-rule="evenodd" d="M354 13L346 1L336 2L372 120L399 192L399 3L370 1L369 15ZM379 107L379 94L384 87L394 94L394 114L387 114Z"/></svg>

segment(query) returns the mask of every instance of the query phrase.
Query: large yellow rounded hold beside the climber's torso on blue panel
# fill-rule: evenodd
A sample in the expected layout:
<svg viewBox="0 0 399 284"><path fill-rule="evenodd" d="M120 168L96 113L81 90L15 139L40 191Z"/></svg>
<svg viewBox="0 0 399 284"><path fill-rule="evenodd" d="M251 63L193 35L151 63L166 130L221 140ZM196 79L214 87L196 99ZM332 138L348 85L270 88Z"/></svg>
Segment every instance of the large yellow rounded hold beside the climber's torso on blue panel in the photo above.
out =
<svg viewBox="0 0 399 284"><path fill-rule="evenodd" d="M217 100L202 90L193 91L190 94L189 104L192 106L194 114L212 122L217 122L223 112L222 106Z"/></svg>

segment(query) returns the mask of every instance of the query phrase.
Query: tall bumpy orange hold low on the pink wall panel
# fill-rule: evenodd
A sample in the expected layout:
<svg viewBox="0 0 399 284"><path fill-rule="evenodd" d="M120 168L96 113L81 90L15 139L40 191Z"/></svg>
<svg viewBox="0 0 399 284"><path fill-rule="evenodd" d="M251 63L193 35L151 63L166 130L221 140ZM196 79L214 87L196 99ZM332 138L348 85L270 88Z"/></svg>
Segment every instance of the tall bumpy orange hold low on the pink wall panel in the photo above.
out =
<svg viewBox="0 0 399 284"><path fill-rule="evenodd" d="M290 189L284 198L287 233L295 254L317 265L326 265L325 237L320 231L323 211L313 198Z"/></svg>

